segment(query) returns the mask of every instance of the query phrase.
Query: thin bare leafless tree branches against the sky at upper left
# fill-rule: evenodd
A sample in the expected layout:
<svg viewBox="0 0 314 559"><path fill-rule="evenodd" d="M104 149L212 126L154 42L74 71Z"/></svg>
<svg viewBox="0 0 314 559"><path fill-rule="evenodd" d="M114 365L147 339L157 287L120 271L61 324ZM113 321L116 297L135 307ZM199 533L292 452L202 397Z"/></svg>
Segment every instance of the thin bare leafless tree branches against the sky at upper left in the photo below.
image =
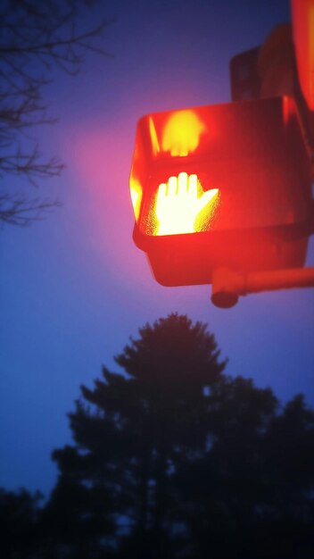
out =
<svg viewBox="0 0 314 559"><path fill-rule="evenodd" d="M55 68L74 76L88 51L100 44L108 20L82 25L93 0L2 0L0 7L0 222L27 225L58 205L41 196L17 194L13 177L39 186L59 176L63 163L43 159L34 129L53 124L43 96ZM88 17L87 17L88 20ZM9 186L11 185L11 186Z"/></svg>

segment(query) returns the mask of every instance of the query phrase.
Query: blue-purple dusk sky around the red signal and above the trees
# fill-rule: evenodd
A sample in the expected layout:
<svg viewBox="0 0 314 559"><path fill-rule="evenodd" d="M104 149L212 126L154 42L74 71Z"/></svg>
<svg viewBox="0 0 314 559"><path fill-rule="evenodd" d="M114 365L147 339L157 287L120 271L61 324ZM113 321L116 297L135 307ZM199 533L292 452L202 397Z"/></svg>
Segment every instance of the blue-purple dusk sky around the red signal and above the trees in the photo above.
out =
<svg viewBox="0 0 314 559"><path fill-rule="evenodd" d="M54 73L45 99L59 121L36 132L43 154L66 169L35 195L62 207L0 231L0 486L46 496L57 476L50 455L70 442L66 414L79 386L91 386L102 364L119 371L113 356L128 338L169 313L208 323L228 374L283 401L304 392L314 405L314 290L246 296L219 310L210 286L161 287L133 243L128 191L138 118L228 102L230 58L289 21L288 0L101 5L94 21L100 12L114 20L103 38L111 56L88 55L76 78Z"/></svg>

